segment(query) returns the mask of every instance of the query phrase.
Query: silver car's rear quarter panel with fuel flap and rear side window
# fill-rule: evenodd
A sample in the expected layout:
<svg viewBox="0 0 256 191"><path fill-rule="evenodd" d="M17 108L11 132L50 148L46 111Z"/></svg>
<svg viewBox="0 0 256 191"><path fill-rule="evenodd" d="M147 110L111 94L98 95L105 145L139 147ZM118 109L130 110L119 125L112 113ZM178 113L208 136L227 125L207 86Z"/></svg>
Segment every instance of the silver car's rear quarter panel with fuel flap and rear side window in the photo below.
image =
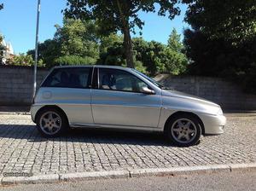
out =
<svg viewBox="0 0 256 191"><path fill-rule="evenodd" d="M55 68L40 90L44 105L56 105L71 125L94 124L90 105L92 67Z"/></svg>

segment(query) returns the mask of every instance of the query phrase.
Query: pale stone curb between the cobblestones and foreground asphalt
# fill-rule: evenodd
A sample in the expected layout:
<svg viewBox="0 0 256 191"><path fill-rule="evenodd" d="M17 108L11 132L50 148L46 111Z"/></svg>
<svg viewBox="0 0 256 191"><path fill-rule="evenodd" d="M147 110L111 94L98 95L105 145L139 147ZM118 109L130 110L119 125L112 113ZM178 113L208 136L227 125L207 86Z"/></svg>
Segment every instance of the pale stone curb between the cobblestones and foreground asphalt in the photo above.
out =
<svg viewBox="0 0 256 191"><path fill-rule="evenodd" d="M232 171L256 171L256 163L234 165L198 165L173 168L135 169L124 171L75 172L63 174L38 175L32 177L3 177L2 175L0 175L0 181L2 185L12 185L69 181L74 182L81 180L98 180L112 178L183 176L199 173L210 174L214 172Z"/></svg>

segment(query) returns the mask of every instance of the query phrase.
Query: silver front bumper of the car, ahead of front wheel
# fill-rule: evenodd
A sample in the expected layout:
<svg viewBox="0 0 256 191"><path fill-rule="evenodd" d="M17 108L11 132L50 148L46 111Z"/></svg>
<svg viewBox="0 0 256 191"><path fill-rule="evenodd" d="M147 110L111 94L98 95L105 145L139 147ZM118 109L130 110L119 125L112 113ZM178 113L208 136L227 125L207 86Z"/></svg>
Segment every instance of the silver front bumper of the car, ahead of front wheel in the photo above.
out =
<svg viewBox="0 0 256 191"><path fill-rule="evenodd" d="M224 115L200 114L206 135L218 135L224 133L226 118Z"/></svg>

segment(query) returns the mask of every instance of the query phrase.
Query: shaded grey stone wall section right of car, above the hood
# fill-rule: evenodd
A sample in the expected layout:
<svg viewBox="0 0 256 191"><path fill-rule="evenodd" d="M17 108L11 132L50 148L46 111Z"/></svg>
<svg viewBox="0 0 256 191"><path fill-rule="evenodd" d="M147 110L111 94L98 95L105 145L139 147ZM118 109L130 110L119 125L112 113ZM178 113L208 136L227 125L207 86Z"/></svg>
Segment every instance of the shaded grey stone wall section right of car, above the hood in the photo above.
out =
<svg viewBox="0 0 256 191"><path fill-rule="evenodd" d="M218 103L224 109L256 110L256 96L222 78L159 75L155 78L166 87L200 96Z"/></svg>

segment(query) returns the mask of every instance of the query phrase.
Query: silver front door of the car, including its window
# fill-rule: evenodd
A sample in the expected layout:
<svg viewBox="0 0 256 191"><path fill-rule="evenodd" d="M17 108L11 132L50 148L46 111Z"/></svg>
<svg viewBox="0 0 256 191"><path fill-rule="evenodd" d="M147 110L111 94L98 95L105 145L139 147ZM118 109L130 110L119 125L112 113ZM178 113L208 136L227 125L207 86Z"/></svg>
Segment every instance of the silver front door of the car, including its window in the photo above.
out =
<svg viewBox="0 0 256 191"><path fill-rule="evenodd" d="M98 85L91 90L95 124L157 127L160 95L142 93L143 80L120 69L98 68Z"/></svg>

